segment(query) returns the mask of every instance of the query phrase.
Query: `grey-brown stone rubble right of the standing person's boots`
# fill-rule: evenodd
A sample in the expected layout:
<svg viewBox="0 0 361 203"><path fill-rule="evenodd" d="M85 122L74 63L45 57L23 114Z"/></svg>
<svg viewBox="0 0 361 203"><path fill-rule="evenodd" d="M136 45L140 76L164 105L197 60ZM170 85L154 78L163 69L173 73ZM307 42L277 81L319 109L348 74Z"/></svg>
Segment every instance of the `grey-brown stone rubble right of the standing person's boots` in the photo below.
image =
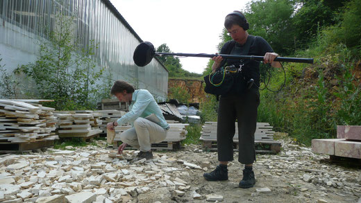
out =
<svg viewBox="0 0 361 203"><path fill-rule="evenodd" d="M337 188L342 193L337 195L361 195L361 173L357 168L342 168L335 164L319 164L321 159L328 159L328 155L317 155L312 148L306 148L285 143L285 149L278 155L260 155L255 166L266 177L283 177L290 180L291 185L296 187L295 179L303 182L301 192L308 192L306 187L310 184L317 188L318 192L328 193L330 188ZM344 170L345 169L345 170ZM294 173L298 172L298 173ZM306 194L307 195L307 194Z"/></svg>

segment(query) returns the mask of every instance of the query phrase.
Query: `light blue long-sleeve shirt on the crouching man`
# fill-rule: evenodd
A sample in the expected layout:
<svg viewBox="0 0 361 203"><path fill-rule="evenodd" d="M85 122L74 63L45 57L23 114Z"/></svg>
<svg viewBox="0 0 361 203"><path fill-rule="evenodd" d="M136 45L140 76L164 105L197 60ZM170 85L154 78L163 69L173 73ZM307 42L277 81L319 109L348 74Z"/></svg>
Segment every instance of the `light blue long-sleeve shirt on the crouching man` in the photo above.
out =
<svg viewBox="0 0 361 203"><path fill-rule="evenodd" d="M158 125L165 129L169 127L162 114L162 110L160 110L156 100L149 91L146 89L137 89L133 92L132 102L131 105L129 105L129 112L124 116L121 116L121 118L117 120L117 123L119 126L124 123L131 123L133 126L135 119L138 117L145 118L151 114L155 114L160 120L160 122L157 123Z"/></svg>

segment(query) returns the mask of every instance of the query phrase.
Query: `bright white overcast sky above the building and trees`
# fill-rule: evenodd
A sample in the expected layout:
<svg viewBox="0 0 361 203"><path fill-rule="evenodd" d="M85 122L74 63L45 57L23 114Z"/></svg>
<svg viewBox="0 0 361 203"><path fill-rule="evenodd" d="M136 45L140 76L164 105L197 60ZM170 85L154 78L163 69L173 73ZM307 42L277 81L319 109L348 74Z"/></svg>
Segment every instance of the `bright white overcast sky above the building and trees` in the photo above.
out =
<svg viewBox="0 0 361 203"><path fill-rule="evenodd" d="M216 53L224 17L249 0L110 0L144 41L166 43L174 53ZM180 58L183 69L202 73L209 58Z"/></svg>

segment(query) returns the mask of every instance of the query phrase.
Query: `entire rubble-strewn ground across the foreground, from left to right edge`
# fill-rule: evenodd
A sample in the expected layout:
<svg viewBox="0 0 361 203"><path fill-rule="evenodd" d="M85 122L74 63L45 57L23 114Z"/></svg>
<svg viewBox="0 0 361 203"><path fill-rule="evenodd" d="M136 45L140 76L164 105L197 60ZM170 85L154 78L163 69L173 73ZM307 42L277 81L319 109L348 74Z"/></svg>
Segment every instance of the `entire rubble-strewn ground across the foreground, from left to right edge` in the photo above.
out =
<svg viewBox="0 0 361 203"><path fill-rule="evenodd" d="M257 155L253 166L255 176L264 181L244 190L247 198L273 197L270 195L276 198L277 194L290 192L289 196L299 198L298 202L332 202L330 194L360 197L360 170L319 164L319 160L327 156L315 155L311 148L291 142L283 143L283 147L278 155ZM217 186L234 182L234 177L230 182L217 184L205 182L201 176L215 168L217 152L205 152L201 145L187 145L177 152L155 152L152 160L137 160L138 152L126 150L124 155L117 155L115 150L106 148L106 141L96 141L96 145L67 146L65 150L48 148L28 155L1 155L0 202L229 200L222 191L226 188ZM231 161L229 174L234 175L240 167L237 161ZM286 183L286 186L272 181ZM293 192L300 195L295 196Z"/></svg>

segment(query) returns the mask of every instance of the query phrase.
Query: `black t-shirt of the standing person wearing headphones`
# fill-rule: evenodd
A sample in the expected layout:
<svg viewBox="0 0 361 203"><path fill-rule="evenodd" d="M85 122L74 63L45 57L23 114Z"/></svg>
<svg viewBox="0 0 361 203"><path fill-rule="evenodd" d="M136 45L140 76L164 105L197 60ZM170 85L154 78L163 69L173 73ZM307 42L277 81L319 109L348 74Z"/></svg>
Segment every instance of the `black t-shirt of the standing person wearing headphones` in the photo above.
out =
<svg viewBox="0 0 361 203"><path fill-rule="evenodd" d="M272 53L274 50L271 48L271 46L268 44L268 42L259 36L253 36L249 35L247 37L247 41L252 40L251 46L249 47L249 53L247 55L260 55L263 56L266 53ZM237 42L228 41L224 46L221 48L220 54L230 54L230 55L242 55L242 51L244 49L244 44L238 44ZM228 46L231 46L231 44L235 44L232 51L230 53L226 53L227 50L229 50ZM255 85L257 87L260 87L260 62L257 61L251 61L251 60L244 60L241 62L240 60L235 59L225 59L226 65L235 65L235 67L240 67L240 64L245 64L244 67L242 67L242 72L245 73L246 78L255 80ZM254 87L254 85L253 85Z"/></svg>

